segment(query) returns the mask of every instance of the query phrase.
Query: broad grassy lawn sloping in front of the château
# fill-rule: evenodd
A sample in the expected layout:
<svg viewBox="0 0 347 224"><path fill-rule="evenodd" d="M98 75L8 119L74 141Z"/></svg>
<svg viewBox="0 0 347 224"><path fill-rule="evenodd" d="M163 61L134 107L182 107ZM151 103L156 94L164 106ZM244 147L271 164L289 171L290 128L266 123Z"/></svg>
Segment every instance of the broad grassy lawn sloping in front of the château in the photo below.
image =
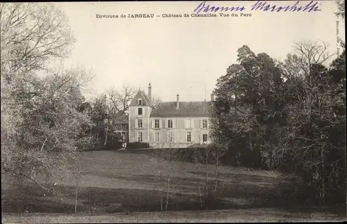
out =
<svg viewBox="0 0 347 224"><path fill-rule="evenodd" d="M183 161L171 161L169 203L166 212L158 213L161 195L164 207L167 200L169 161L160 160L153 150L81 152L81 161L83 176L78 189L78 214L74 214L73 179L64 184L58 182L56 186L66 198L46 193L31 183L22 188L2 184L3 221L143 222L154 219L167 222L174 221L175 217L176 221L197 221L198 217L205 217L203 221L247 221L251 217L253 221L254 218L258 221L323 221L346 216L344 208L314 207L291 201L294 189L278 173L230 167L220 169L217 197L207 203L208 209L213 211L206 211L198 193L198 186L201 194L205 191L205 166ZM214 170L214 166L208 165L210 194L214 188ZM163 189L160 174L164 177Z"/></svg>

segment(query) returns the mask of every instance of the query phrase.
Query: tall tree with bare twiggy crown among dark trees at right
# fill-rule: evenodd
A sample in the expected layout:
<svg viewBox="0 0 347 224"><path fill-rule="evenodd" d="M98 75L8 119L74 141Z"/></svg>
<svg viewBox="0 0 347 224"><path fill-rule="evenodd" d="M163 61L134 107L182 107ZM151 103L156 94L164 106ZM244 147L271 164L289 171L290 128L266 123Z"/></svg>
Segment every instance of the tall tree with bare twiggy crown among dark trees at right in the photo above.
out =
<svg viewBox="0 0 347 224"><path fill-rule="evenodd" d="M321 202L325 200L326 170L331 166L325 158L332 146L328 141L330 134L319 125L324 123L335 127L339 122L335 119L337 115L333 105L344 105L342 97L335 93L337 84L332 82L323 66L333 55L328 53L327 48L324 42L296 42L296 54L289 55L282 64L289 79L289 89L297 96L296 104L287 108L289 129L286 138L295 142L289 153L295 152L293 161L301 161L305 184L319 184L317 189ZM310 134L302 131L307 124L311 125ZM283 143L287 144L287 141Z"/></svg>

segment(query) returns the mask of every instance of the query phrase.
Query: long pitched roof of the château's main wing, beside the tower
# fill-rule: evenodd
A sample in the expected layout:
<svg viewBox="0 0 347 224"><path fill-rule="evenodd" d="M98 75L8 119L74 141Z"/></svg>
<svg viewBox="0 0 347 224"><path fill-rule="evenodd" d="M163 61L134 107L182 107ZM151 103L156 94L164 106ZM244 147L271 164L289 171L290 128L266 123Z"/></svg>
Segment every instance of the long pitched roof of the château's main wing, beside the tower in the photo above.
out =
<svg viewBox="0 0 347 224"><path fill-rule="evenodd" d="M153 109L152 118L210 117L210 102L161 102Z"/></svg>

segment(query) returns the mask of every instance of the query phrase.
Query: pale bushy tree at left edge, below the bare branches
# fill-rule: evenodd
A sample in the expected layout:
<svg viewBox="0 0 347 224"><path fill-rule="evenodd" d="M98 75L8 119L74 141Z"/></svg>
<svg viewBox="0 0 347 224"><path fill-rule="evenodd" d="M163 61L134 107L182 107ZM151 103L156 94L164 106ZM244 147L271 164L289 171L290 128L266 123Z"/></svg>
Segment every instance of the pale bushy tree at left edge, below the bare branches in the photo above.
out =
<svg viewBox="0 0 347 224"><path fill-rule="evenodd" d="M78 71L74 71L78 72ZM3 170L30 177L35 167L52 178L67 175L77 147L88 143L81 133L91 125L78 111L83 97L76 73L49 74L37 80L34 97L5 91L1 137ZM60 178L60 179L61 179Z"/></svg>

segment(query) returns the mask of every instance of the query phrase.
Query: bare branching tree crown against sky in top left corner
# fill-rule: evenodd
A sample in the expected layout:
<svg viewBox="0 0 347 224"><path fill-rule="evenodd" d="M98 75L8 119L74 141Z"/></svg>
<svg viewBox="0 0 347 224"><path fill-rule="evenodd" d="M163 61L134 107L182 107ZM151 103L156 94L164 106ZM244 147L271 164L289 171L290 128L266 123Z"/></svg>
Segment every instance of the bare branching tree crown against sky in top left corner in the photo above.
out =
<svg viewBox="0 0 347 224"><path fill-rule="evenodd" d="M42 70L69 55L75 42L67 17L53 3L1 3L1 74Z"/></svg>

